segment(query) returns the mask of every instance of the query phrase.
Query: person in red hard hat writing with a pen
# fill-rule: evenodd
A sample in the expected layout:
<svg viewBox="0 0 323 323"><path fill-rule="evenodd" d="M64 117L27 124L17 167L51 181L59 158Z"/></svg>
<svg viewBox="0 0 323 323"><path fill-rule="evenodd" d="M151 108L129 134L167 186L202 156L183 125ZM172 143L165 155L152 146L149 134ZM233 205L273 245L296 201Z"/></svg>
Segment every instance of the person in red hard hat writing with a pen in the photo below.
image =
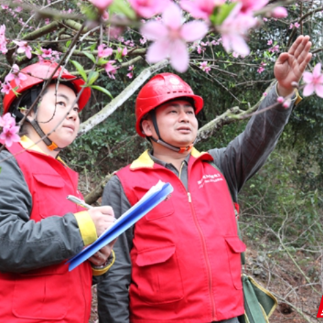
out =
<svg viewBox="0 0 323 323"><path fill-rule="evenodd" d="M58 154L76 138L78 113L91 92L50 61L20 73L25 76L11 82L14 90L3 101L4 114L17 123L28 115L20 142L0 151L0 322L88 322L92 274L109 269L112 246L70 272L66 260L113 223L113 210L85 211L67 200L82 199L78 174Z"/></svg>

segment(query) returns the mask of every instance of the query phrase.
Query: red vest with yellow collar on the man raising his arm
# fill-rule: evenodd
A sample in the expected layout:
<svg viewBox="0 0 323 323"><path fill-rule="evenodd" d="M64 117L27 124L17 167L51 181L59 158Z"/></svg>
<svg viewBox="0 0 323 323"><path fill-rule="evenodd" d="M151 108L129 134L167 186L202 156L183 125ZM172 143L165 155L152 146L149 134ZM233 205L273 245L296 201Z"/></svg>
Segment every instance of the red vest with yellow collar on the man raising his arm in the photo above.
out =
<svg viewBox="0 0 323 323"><path fill-rule="evenodd" d="M135 204L159 180L171 196L135 224L130 321L201 323L244 313L239 239L227 182L209 154L193 149L188 191L145 152L117 172Z"/></svg>

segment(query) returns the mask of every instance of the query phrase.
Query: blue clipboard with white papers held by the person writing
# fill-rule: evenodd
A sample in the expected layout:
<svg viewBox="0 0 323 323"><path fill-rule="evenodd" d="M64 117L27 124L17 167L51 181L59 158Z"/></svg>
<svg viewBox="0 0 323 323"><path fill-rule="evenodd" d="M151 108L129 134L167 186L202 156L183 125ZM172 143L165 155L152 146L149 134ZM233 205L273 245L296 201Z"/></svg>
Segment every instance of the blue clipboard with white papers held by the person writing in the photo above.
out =
<svg viewBox="0 0 323 323"><path fill-rule="evenodd" d="M173 186L169 183L159 181L155 186L138 201L132 208L122 214L113 225L101 234L101 236L88 247L84 248L73 258L69 259L69 271L76 268L82 262L93 256L98 250L117 238L121 233L129 229L145 214L151 211L160 202L173 192Z"/></svg>

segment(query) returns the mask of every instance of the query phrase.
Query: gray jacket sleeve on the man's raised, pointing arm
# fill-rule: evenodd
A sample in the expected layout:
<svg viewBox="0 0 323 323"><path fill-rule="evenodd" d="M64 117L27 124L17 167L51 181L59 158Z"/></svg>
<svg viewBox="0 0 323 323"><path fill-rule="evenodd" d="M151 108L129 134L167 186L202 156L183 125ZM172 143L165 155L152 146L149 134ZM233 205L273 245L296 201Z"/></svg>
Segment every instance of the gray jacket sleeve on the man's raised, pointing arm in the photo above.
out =
<svg viewBox="0 0 323 323"><path fill-rule="evenodd" d="M277 94L272 88L261 102L258 111L277 103ZM253 116L243 133L221 149L211 149L209 153L214 163L227 180L235 201L243 184L265 163L275 148L288 122L292 107L278 105L264 113Z"/></svg>

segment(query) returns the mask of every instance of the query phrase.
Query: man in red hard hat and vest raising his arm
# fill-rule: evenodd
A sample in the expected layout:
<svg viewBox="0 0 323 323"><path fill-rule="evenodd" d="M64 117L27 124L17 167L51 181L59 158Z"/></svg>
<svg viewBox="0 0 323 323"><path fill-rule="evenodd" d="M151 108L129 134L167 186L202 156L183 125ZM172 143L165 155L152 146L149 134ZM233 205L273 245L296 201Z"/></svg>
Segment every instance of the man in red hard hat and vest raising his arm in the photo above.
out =
<svg viewBox="0 0 323 323"><path fill-rule="evenodd" d="M116 262L98 284L100 323L237 323L244 313L234 203L274 149L311 59L308 36L278 58L276 85L225 148L194 148L203 100L179 76L154 76L138 94L136 130L152 149L108 182L103 204L119 217L159 180L171 196L118 238ZM291 96L291 106L277 103Z"/></svg>

